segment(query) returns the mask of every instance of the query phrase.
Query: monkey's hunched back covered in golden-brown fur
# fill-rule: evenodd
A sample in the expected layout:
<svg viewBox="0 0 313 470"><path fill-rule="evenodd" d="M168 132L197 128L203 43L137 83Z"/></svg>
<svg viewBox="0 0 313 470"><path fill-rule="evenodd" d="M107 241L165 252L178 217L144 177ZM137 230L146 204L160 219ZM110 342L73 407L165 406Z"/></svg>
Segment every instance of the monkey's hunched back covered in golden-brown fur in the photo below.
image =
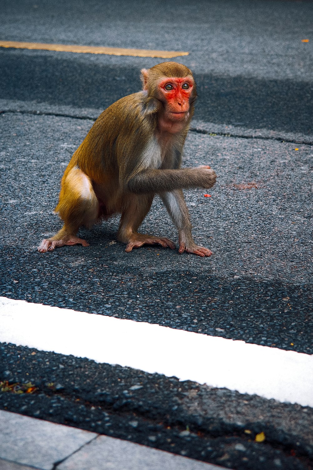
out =
<svg viewBox="0 0 313 470"><path fill-rule="evenodd" d="M146 95L124 96L104 110L78 147L67 170L78 166L100 184L107 173L121 180L135 169L154 130L153 117L144 115Z"/></svg>

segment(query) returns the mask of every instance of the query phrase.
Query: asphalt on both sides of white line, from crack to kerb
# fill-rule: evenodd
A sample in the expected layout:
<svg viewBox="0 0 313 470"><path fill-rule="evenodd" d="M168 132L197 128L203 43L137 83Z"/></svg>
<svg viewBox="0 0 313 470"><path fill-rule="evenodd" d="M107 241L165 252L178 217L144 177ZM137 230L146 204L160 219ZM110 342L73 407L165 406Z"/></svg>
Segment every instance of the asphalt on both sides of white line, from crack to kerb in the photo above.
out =
<svg viewBox="0 0 313 470"><path fill-rule="evenodd" d="M195 239L214 251L210 258L158 247L127 254L115 243L116 218L82 231L90 247L42 255L41 237L60 226L52 211L61 175L97 110L79 118L77 109L42 103L37 115L28 104L18 112L4 102L0 116L2 295L312 354L311 143L292 135L284 142L279 133L214 135L210 124L194 122L184 165L211 164L219 177L210 198L186 191ZM158 199L142 230L177 236ZM31 380L38 392L3 393L0 407L145 445L153 436L159 449L228 468L309 468L310 408L46 354L3 346L3 379ZM138 398L125 395L138 380L149 385ZM191 435L182 436L187 426ZM265 444L245 430L253 437L265 430Z"/></svg>

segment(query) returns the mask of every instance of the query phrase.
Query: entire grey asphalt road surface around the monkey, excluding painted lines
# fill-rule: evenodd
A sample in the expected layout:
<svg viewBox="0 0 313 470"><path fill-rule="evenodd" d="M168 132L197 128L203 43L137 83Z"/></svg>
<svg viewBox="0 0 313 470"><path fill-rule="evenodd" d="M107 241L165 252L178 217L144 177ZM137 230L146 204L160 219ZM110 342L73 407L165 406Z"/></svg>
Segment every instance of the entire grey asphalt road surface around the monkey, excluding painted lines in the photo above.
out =
<svg viewBox="0 0 313 470"><path fill-rule="evenodd" d="M38 253L61 227L53 209L73 151L162 60L0 48L0 295L313 354L313 3L14 0L1 11L3 40L188 51L174 59L199 94L183 165L209 164L218 180L211 197L185 191L210 258L125 253L118 218L82 229L87 248ZM141 231L177 243L158 198ZM313 468L312 407L26 345L0 351L0 382L36 387L0 392L2 409L232 469Z"/></svg>

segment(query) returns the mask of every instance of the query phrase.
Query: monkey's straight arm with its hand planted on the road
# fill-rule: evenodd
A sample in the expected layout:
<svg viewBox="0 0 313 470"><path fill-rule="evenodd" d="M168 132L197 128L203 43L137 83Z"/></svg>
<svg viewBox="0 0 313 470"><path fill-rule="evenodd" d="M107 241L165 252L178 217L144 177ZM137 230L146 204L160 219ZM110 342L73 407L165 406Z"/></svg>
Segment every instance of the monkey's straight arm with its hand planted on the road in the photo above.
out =
<svg viewBox="0 0 313 470"><path fill-rule="evenodd" d="M211 250L196 245L193 240L189 211L183 197L183 191L176 189L171 192L160 193L160 198L178 230L178 251L180 253L187 251L188 253L194 253L201 257L211 256Z"/></svg>

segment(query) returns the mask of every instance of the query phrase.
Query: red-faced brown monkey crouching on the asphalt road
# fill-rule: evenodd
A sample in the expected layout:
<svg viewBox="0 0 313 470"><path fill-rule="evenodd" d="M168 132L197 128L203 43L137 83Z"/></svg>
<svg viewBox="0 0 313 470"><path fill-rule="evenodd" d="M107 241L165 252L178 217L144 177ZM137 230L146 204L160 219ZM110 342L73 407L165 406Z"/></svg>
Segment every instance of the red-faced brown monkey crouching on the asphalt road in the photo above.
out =
<svg viewBox="0 0 313 470"><path fill-rule="evenodd" d="M140 234L138 227L158 194L178 230L179 252L212 252L194 243L183 188L211 188L209 166L181 169L183 145L197 97L191 71L165 62L141 71L143 90L109 106L96 120L71 158L61 180L55 211L64 225L43 240L38 251L88 246L79 227L121 214L117 239L127 252L142 245L175 248L167 237Z"/></svg>

